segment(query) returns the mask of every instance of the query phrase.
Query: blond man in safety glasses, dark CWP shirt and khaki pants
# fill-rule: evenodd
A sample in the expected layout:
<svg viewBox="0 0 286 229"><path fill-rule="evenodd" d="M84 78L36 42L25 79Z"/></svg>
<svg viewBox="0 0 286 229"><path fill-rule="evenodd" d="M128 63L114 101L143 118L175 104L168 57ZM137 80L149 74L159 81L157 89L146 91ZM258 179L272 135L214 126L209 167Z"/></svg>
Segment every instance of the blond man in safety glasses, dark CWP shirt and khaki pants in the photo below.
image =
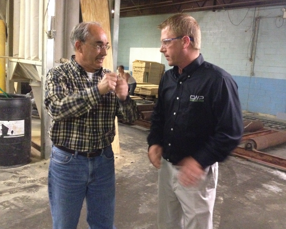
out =
<svg viewBox="0 0 286 229"><path fill-rule="evenodd" d="M159 229L212 229L218 162L243 133L237 85L200 54L201 33L188 14L158 28L169 66L163 75L147 138L158 168Z"/></svg>

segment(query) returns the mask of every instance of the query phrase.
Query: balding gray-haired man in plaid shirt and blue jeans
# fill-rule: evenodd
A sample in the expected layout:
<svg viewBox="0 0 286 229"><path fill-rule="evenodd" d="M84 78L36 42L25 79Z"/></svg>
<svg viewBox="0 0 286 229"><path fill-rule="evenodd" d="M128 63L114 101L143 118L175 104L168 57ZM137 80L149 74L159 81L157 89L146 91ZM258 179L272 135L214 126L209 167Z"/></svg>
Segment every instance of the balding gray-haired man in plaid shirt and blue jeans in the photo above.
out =
<svg viewBox="0 0 286 229"><path fill-rule="evenodd" d="M89 228L112 229L115 116L134 122L139 112L126 81L102 67L110 46L100 24L78 24L70 41L75 55L50 69L44 96L52 118L48 192L53 229L76 229L84 198Z"/></svg>

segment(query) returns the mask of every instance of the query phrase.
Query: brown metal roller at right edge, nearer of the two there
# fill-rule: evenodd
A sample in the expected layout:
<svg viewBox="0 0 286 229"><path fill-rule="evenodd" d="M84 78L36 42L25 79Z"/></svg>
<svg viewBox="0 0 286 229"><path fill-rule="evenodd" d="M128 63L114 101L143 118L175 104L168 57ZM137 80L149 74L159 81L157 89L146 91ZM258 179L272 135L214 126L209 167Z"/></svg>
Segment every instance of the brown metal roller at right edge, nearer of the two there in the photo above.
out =
<svg viewBox="0 0 286 229"><path fill-rule="evenodd" d="M246 140L244 148L248 150L263 150L286 142L286 131L267 134Z"/></svg>

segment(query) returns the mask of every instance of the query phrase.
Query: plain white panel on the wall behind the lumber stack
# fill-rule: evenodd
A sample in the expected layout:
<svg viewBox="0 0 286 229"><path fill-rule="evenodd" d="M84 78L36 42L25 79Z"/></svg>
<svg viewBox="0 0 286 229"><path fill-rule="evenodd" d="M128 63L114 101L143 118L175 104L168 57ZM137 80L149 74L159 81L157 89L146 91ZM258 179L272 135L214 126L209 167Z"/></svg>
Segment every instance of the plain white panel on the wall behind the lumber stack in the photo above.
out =
<svg viewBox="0 0 286 229"><path fill-rule="evenodd" d="M129 71L132 71L132 63L135 60L154 61L161 63L162 53L160 48L130 48Z"/></svg>

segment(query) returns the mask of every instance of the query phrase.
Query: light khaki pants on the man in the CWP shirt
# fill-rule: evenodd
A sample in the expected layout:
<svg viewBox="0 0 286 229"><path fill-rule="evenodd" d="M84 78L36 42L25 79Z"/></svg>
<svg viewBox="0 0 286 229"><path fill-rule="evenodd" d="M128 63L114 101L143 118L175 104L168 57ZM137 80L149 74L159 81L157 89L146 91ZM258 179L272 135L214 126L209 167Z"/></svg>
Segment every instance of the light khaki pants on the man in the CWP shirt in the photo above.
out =
<svg viewBox="0 0 286 229"><path fill-rule="evenodd" d="M206 177L196 187L184 187L178 179L180 166L161 161L158 188L159 229L212 229L218 163L206 168Z"/></svg>

